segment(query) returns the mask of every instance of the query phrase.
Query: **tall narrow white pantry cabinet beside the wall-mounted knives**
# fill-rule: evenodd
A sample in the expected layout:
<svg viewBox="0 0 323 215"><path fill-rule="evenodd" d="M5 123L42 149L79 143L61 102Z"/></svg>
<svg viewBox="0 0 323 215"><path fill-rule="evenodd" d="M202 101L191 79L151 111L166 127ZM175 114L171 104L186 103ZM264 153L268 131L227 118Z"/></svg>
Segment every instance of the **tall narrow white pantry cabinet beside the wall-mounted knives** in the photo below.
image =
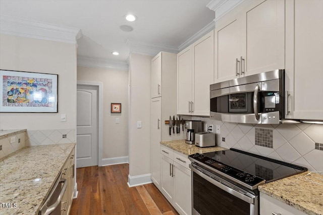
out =
<svg viewBox="0 0 323 215"><path fill-rule="evenodd" d="M170 136L169 126L163 123L176 112L176 56L162 51L151 60L151 180L159 189L160 141L183 138L180 134Z"/></svg>

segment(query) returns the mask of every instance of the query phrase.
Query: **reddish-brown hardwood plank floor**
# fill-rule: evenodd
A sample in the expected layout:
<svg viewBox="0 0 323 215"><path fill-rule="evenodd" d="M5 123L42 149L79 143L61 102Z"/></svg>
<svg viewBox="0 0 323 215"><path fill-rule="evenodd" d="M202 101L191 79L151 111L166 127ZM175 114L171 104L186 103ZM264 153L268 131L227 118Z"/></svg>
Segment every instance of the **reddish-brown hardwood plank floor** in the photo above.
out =
<svg viewBox="0 0 323 215"><path fill-rule="evenodd" d="M129 164L76 169L70 214L178 214L154 184L128 187Z"/></svg>

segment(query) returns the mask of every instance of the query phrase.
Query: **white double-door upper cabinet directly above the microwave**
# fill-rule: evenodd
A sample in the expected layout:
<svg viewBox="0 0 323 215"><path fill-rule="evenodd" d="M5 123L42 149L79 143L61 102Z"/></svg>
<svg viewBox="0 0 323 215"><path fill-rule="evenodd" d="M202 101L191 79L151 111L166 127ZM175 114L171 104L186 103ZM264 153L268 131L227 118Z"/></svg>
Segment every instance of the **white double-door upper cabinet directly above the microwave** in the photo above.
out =
<svg viewBox="0 0 323 215"><path fill-rule="evenodd" d="M285 1L245 1L216 22L214 82L285 68Z"/></svg>

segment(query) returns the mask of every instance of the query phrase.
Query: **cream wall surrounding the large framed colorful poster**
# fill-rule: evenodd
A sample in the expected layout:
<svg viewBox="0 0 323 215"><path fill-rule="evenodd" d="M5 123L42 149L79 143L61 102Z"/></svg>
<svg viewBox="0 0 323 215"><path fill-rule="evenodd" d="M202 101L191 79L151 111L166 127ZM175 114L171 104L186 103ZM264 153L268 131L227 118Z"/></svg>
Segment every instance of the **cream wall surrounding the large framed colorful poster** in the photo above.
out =
<svg viewBox="0 0 323 215"><path fill-rule="evenodd" d="M1 34L0 69L59 75L58 113L0 113L0 128L75 130L76 44Z"/></svg>

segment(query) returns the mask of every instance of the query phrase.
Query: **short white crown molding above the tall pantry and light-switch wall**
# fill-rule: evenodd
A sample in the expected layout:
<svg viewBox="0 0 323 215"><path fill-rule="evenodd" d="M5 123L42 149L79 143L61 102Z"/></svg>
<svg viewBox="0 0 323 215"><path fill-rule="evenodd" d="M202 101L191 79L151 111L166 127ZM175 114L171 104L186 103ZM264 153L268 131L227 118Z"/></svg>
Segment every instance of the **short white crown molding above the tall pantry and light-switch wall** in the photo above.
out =
<svg viewBox="0 0 323 215"><path fill-rule="evenodd" d="M126 45L129 46L130 53L155 56L160 51L178 53L178 48L170 45L161 45L153 43L145 43L133 40L127 40Z"/></svg>

